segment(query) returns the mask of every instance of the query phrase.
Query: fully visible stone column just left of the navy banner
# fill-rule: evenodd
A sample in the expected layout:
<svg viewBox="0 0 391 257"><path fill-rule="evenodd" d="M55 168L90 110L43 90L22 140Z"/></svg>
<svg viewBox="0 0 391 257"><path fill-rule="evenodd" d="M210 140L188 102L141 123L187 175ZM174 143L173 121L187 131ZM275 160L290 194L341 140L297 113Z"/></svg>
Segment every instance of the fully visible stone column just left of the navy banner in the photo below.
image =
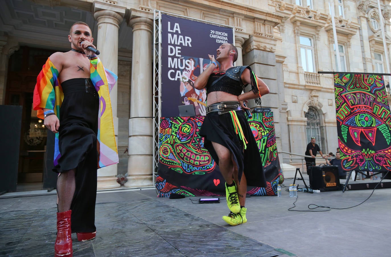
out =
<svg viewBox="0 0 391 257"><path fill-rule="evenodd" d="M133 28L127 182L124 186L152 186L152 13L131 10Z"/></svg>

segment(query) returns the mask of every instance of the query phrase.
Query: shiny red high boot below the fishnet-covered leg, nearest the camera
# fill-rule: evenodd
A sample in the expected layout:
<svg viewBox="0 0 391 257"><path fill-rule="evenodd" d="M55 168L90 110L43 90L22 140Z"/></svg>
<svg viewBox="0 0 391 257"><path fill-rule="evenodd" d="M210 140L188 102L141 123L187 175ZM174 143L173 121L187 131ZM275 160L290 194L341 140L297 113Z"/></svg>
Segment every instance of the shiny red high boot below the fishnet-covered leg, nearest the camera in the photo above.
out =
<svg viewBox="0 0 391 257"><path fill-rule="evenodd" d="M57 238L54 257L72 257L71 210L57 212Z"/></svg>

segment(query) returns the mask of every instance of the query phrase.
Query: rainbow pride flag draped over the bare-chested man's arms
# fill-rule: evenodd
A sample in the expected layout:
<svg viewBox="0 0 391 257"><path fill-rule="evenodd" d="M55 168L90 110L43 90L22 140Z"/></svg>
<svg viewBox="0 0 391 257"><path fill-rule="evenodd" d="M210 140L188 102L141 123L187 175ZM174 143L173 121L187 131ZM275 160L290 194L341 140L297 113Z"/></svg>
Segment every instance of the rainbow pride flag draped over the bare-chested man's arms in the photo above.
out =
<svg viewBox="0 0 391 257"><path fill-rule="evenodd" d="M96 68L93 64L96 64ZM115 141L113 115L111 110L110 91L117 81L117 75L105 69L99 58L91 60L91 81L99 94L98 114L98 145L99 165L98 168L118 163L117 143ZM37 77L34 88L33 107L37 110L37 117L43 119L43 108L52 109L59 118L60 107L64 94L58 81L58 71L50 58L42 67ZM61 157L58 147L58 133L56 133L54 145L54 166Z"/></svg>

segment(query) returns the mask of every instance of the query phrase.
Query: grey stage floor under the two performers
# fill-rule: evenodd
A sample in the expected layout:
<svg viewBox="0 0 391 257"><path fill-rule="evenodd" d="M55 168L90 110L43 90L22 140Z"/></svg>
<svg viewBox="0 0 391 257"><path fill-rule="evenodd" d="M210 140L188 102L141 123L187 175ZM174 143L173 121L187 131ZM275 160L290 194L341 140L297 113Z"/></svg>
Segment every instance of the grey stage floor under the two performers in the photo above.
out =
<svg viewBox="0 0 391 257"><path fill-rule="evenodd" d="M0 196L0 256L54 255L56 195L42 191ZM298 192L293 210L350 207L371 192ZM225 200L196 205L190 199L199 197L158 198L151 188L101 191L97 237L78 242L72 234L74 256L389 256L390 194L377 189L362 205L328 212L291 212L296 199L285 191L249 197L248 222L230 226L221 219L229 213Z"/></svg>

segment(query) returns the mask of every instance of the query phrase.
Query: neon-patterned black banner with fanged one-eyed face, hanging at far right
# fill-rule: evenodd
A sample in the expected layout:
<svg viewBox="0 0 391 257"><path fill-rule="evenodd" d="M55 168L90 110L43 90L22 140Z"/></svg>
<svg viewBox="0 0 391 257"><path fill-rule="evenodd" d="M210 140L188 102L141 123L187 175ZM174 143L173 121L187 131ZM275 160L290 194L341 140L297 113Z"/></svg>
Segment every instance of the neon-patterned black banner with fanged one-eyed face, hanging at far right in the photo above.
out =
<svg viewBox="0 0 391 257"><path fill-rule="evenodd" d="M391 116L383 77L334 74L334 87L343 169L387 171L391 165Z"/></svg>

